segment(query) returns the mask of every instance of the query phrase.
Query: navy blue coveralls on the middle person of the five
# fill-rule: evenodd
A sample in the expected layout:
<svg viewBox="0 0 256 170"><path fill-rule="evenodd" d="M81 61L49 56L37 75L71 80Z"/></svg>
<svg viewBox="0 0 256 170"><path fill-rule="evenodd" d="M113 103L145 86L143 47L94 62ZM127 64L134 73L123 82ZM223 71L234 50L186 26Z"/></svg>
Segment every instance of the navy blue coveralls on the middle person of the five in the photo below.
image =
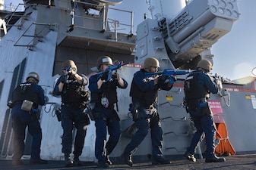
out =
<svg viewBox="0 0 256 170"><path fill-rule="evenodd" d="M96 106L93 113L96 113L95 126L96 126L96 144L95 156L98 162L105 162L106 156L109 156L114 150L119 141L121 128L119 124L119 116L114 110L114 104L117 102L116 88L127 88L128 83L123 79L124 86L119 85L119 82L113 78L109 81L103 82L103 85L98 89L97 82L100 79L99 75L90 76L89 90L91 92L91 103ZM122 79L122 78L120 78ZM101 104L103 95L108 98L109 106L104 107ZM107 130L109 132L109 140L106 142Z"/></svg>

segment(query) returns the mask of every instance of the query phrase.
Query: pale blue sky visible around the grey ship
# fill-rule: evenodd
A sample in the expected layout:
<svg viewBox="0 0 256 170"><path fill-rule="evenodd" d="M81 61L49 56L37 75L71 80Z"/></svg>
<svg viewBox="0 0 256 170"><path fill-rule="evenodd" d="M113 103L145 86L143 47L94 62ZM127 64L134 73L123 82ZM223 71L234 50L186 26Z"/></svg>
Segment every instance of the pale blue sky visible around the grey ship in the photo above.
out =
<svg viewBox="0 0 256 170"><path fill-rule="evenodd" d="M5 5L23 3L22 0L5 0ZM240 17L233 23L232 29L218 42L213 44L212 73L227 79L240 79L253 76L251 70L256 67L256 1L237 0ZM146 0L123 0L122 4L112 8L134 11L134 34L137 24L144 20L144 13L150 17Z"/></svg>

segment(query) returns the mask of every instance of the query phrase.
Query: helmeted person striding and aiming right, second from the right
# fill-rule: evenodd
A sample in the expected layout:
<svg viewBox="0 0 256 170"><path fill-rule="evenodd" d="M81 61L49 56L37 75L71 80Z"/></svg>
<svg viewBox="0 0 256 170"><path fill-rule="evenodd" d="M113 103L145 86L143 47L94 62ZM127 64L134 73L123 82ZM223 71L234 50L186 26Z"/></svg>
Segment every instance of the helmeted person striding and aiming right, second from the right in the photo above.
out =
<svg viewBox="0 0 256 170"><path fill-rule="evenodd" d="M156 73L160 67L159 61L155 57L148 57L144 60L144 68L134 73L131 82L130 96L132 105L134 106L133 120L137 127L131 142L125 147L122 153L122 159L127 165L132 166L132 154L137 150L151 128L152 141L152 165L169 164L170 161L163 158L163 130L161 128L160 116L156 110L158 90L163 89L169 91L172 84L169 77L152 76L148 81L144 81L145 73ZM176 80L175 76L173 76Z"/></svg>

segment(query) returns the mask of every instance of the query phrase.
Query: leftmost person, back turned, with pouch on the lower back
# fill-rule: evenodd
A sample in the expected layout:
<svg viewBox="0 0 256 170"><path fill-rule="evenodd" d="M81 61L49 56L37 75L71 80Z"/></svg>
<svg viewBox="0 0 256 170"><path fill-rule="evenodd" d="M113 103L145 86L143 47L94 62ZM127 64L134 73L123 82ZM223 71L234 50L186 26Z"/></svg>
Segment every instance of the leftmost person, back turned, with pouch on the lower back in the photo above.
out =
<svg viewBox="0 0 256 170"><path fill-rule="evenodd" d="M30 164L46 164L47 161L40 159L40 147L42 141L42 129L40 127L40 113L38 107L46 104L43 88L38 85L40 77L37 73L28 74L26 82L21 83L12 93L11 119L14 130L14 156L13 164L22 165L21 157L24 154L25 129L33 140L31 145ZM29 103L27 107L24 107Z"/></svg>

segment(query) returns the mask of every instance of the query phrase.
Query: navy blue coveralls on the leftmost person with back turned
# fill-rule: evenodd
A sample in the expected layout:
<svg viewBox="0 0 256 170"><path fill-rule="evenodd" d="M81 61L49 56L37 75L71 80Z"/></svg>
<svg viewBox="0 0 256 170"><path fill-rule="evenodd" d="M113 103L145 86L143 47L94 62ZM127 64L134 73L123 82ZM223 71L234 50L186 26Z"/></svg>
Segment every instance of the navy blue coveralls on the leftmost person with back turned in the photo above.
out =
<svg viewBox="0 0 256 170"><path fill-rule="evenodd" d="M30 159L40 159L40 147L42 141L40 122L36 119L36 113L21 110L21 104L24 98L26 98L25 96L27 96L27 100L33 101L35 104L33 107L35 107L34 109L37 109L38 105L42 106L45 104L45 98L43 88L40 85L30 82L26 83L28 89L24 92L24 96L21 96L21 89L19 86L12 94L12 102L14 103L14 107L11 110L11 118L13 122L12 128L14 129L14 161L20 160L24 154L25 129L27 127L28 132L33 137Z"/></svg>

